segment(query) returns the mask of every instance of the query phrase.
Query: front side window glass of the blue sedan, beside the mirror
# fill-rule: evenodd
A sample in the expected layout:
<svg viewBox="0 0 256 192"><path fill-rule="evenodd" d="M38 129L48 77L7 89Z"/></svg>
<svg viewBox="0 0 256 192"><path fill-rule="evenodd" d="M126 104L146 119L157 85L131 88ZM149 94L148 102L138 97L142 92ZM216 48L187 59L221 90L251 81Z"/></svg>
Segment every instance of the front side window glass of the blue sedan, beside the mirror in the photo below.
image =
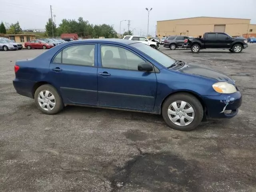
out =
<svg viewBox="0 0 256 192"><path fill-rule="evenodd" d="M101 45L100 51L104 68L138 70L138 64L146 63L136 54L121 47Z"/></svg>

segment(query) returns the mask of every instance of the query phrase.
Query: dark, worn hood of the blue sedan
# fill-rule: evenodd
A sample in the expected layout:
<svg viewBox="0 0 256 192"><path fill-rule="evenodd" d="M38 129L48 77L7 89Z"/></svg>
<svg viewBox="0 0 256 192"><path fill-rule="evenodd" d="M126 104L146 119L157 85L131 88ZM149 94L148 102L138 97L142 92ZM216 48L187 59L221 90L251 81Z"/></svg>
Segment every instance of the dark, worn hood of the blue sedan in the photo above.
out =
<svg viewBox="0 0 256 192"><path fill-rule="evenodd" d="M211 68L202 67L197 64L185 64L182 68L178 69L177 71L196 76L202 76L205 78L210 78L218 82L228 82L230 84L235 84L234 80L226 74Z"/></svg>

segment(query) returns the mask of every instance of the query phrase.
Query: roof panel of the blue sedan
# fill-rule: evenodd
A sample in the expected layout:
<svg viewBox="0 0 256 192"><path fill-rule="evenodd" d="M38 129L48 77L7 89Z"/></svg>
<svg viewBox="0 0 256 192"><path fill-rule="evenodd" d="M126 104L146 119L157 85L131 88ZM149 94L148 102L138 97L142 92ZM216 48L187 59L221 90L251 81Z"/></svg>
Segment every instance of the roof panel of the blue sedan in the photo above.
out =
<svg viewBox="0 0 256 192"><path fill-rule="evenodd" d="M68 42L69 44L76 44L76 43L119 43L119 44L134 44L136 42L132 40L127 40L127 39L84 39L84 40L75 40L75 41L70 41Z"/></svg>

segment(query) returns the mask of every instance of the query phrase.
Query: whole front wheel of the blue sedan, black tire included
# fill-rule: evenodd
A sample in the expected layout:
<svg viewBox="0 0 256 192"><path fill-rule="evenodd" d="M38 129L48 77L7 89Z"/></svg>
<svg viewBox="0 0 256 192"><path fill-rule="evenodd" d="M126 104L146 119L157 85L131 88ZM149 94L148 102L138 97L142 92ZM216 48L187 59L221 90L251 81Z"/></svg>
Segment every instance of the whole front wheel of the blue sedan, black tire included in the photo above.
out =
<svg viewBox="0 0 256 192"><path fill-rule="evenodd" d="M193 112L186 113L184 110L182 110L181 104L184 104L184 102L186 102L186 104L183 106L184 110L190 109L193 110ZM172 105L174 103L176 103L177 106L176 110ZM195 96L189 93L173 94L169 96L162 105L162 116L164 121L168 126L170 126L170 128L176 130L190 131L195 129L202 121L203 114L204 112L202 104ZM184 120L183 125L181 121L182 119Z"/></svg>

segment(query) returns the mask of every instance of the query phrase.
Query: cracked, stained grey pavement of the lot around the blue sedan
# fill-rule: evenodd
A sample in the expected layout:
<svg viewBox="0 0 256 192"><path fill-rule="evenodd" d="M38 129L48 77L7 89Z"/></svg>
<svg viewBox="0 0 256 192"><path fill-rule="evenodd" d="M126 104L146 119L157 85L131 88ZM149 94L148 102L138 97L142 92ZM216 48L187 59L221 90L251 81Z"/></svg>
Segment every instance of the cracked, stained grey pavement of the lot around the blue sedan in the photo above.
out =
<svg viewBox="0 0 256 192"><path fill-rule="evenodd" d="M241 54L160 50L234 78L238 115L191 132L136 112L68 106L48 116L12 86L15 61L45 50L0 51L0 191L255 192L256 44Z"/></svg>

